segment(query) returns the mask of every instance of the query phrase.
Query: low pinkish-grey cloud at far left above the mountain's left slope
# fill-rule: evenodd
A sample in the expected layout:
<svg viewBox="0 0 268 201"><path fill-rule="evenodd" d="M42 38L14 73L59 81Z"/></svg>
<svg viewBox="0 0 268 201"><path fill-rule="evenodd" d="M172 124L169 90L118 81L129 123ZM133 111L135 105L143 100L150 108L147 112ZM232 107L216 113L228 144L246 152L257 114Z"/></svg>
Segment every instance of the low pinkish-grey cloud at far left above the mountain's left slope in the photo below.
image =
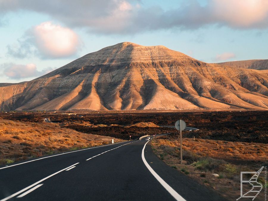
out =
<svg viewBox="0 0 268 201"><path fill-rule="evenodd" d="M38 77L55 70L55 68L48 67L42 71L38 71L36 65L33 63L29 63L27 65L4 63L0 66L3 69L3 75L15 80L27 77Z"/></svg>

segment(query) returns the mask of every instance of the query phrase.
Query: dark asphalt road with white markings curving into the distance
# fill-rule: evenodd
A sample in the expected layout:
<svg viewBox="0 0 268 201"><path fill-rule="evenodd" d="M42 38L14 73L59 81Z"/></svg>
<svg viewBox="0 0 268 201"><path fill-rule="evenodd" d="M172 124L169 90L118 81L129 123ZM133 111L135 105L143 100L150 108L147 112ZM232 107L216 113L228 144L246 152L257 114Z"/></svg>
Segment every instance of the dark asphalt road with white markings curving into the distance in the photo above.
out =
<svg viewBox="0 0 268 201"><path fill-rule="evenodd" d="M145 139L1 166L0 200L224 200L167 166Z"/></svg>

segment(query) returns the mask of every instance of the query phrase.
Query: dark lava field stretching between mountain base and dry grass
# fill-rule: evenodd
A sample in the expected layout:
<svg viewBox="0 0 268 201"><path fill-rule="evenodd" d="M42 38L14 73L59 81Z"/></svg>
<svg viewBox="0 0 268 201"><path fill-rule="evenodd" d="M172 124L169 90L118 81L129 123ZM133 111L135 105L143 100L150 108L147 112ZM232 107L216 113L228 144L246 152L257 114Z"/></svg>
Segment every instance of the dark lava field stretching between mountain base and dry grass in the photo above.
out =
<svg viewBox="0 0 268 201"><path fill-rule="evenodd" d="M1 113L0 117L9 120L43 122L50 118L61 127L97 135L129 139L146 133L174 133L178 119L183 119L188 127L198 131L185 131L183 135L191 138L214 139L241 142L268 142L268 113L266 111L225 111L225 112L151 112L151 113L80 113L77 115L49 113ZM152 122L148 127L130 125L139 122ZM99 125L98 125L99 124Z"/></svg>

